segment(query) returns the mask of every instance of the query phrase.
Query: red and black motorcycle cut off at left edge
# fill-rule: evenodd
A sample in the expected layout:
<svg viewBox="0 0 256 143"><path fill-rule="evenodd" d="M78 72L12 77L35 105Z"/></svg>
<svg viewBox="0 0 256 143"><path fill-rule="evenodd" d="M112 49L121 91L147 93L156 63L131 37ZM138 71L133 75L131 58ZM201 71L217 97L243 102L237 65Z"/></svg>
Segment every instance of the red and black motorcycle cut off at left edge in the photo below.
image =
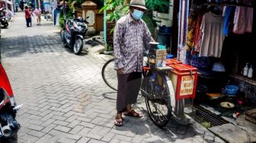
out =
<svg viewBox="0 0 256 143"><path fill-rule="evenodd" d="M21 106L16 106L11 84L0 63L0 142L17 143L20 124L15 119Z"/></svg>

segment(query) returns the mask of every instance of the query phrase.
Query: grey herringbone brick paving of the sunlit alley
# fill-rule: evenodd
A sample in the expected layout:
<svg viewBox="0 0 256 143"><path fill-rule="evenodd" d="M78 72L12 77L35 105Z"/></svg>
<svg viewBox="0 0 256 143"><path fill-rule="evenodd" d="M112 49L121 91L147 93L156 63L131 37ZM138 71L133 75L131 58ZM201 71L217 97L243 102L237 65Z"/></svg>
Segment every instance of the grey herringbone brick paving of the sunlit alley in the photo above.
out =
<svg viewBox="0 0 256 143"><path fill-rule="evenodd" d="M124 117L114 126L115 96L101 79L104 60L94 54L75 56L62 48L59 29L49 21L25 27L17 13L0 40L2 63L19 104L21 130L27 142L223 142L197 122L159 129L148 118L139 97L142 119Z"/></svg>

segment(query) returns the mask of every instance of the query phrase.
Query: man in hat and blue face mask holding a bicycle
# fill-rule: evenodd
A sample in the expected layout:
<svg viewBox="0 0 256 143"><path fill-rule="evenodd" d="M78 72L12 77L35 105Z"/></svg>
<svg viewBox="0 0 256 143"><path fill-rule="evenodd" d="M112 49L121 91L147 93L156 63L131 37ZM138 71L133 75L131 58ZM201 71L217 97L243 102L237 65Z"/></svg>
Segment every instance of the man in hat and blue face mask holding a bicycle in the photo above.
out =
<svg viewBox="0 0 256 143"><path fill-rule="evenodd" d="M143 51L154 41L141 19L146 10L145 0L131 0L130 12L117 21L114 30L114 62L118 78L116 126L123 126L122 113L141 117L131 105L137 102L139 94Z"/></svg>

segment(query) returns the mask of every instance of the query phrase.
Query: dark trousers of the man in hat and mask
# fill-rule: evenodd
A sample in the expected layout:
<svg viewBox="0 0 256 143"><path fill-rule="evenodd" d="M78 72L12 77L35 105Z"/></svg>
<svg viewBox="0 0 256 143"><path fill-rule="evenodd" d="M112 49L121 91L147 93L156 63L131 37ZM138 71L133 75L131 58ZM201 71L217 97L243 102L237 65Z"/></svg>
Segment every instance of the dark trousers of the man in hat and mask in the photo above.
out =
<svg viewBox="0 0 256 143"><path fill-rule="evenodd" d="M141 77L141 72L117 74L117 111L126 110L128 104L137 103Z"/></svg>

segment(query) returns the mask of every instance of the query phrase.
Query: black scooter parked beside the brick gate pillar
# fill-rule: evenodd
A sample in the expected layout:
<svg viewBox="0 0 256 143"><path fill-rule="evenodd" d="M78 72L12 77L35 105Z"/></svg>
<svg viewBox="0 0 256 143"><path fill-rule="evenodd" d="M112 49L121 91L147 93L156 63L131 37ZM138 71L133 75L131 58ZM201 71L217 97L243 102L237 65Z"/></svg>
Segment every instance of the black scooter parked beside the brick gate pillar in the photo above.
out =
<svg viewBox="0 0 256 143"><path fill-rule="evenodd" d="M64 27L60 32L62 43L64 46L71 48L75 55L82 52L83 40L88 30L87 24L88 22L82 17L64 20Z"/></svg>

